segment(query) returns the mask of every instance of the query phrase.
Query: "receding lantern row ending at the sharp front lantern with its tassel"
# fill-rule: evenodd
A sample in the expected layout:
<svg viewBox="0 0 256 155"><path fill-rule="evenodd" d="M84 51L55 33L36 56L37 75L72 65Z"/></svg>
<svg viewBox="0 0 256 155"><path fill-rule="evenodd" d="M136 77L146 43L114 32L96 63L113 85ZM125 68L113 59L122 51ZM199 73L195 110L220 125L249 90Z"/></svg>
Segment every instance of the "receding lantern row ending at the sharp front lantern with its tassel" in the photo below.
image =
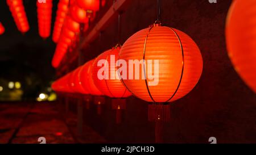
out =
<svg viewBox="0 0 256 155"><path fill-rule="evenodd" d="M160 5L159 1L158 5ZM158 11L160 13L160 10ZM113 57L114 63L111 63ZM142 58L138 72L134 69L134 65L129 63L130 60L139 61ZM115 63L118 60L125 61L129 67L120 69ZM154 65L151 68L153 70L150 71L147 70L150 66L149 61L153 61L151 66ZM98 62L104 65L103 68ZM104 70L104 78L99 78L100 70ZM60 78L52 87L56 91L68 90L68 93L106 95L114 99L126 98L133 94L135 97L154 103L152 104L154 106L148 108L148 114L151 114L148 119L156 123L156 141L160 142L162 123L170 119L168 116L170 107L164 104L188 94L199 81L202 70L203 59L196 43L184 32L162 26L158 16L158 20L151 27L135 33L122 47L118 44L117 47L103 52L94 60L86 62L67 75L70 77L69 81L65 76L63 82L65 86L58 84L59 81L63 81L63 78ZM151 74L148 74L149 72ZM152 85L153 75L156 80L155 85ZM75 79L78 79L78 82L74 82ZM81 87L85 91L81 91ZM90 87L93 89L88 89ZM120 100L112 103L117 114L125 107Z"/></svg>

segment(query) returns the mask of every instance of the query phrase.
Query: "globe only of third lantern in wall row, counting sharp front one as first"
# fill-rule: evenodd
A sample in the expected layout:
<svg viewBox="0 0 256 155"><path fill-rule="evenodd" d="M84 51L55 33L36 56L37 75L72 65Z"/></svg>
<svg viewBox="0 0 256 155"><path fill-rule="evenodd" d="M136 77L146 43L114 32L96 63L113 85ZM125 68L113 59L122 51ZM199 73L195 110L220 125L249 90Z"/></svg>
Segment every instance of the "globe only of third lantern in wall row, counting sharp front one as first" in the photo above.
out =
<svg viewBox="0 0 256 155"><path fill-rule="evenodd" d="M92 77L92 65L94 60L86 62L81 68L81 85L91 95L102 95L101 91L94 85Z"/></svg>

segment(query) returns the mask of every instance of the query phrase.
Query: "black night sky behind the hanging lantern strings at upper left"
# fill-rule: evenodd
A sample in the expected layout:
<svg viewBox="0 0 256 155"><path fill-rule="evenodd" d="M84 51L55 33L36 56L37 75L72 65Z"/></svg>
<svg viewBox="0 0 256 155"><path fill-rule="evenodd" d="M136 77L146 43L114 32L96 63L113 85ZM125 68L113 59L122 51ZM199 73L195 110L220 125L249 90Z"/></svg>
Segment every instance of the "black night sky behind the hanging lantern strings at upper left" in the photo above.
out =
<svg viewBox="0 0 256 155"><path fill-rule="evenodd" d="M53 1L53 30L57 2ZM16 28L6 1L0 1L0 22L6 31L0 36L0 78L6 81L20 81L23 88L44 89L55 77L51 60L55 43L51 37L43 40L38 33L36 0L24 0L30 30L22 34ZM32 90L31 90L32 92Z"/></svg>

